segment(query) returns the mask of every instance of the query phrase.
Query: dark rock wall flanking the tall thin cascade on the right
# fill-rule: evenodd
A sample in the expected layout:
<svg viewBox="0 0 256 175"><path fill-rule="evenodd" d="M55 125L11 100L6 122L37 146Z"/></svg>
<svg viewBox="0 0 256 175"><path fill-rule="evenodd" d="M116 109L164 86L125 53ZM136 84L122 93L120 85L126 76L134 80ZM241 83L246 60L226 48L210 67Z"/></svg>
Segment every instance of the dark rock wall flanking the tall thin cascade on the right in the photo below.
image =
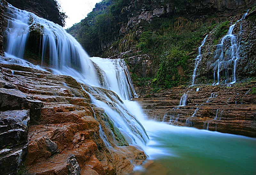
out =
<svg viewBox="0 0 256 175"><path fill-rule="evenodd" d="M236 15L235 17L229 18L229 21L232 24L235 24L236 21L242 18L243 14ZM225 29L228 30L228 27L231 24L228 23L228 26L225 26ZM255 77L255 55L256 55L256 10L249 11L248 15L245 19L240 20L236 23L232 34L236 36L236 45L239 48L238 51L238 60L236 62L236 79L243 80L247 77ZM220 29L219 29L220 30ZM197 77L195 84L200 83L213 83L213 72L214 72L214 62L216 61L215 54L216 48L218 47L216 44L220 43L220 40L223 36L220 36L216 40L215 35L218 33L218 27L213 29L211 33L209 33L204 46L202 47L202 61L199 62L197 69ZM214 43L217 41L217 43ZM228 43L228 41L227 41ZM225 43L224 43L225 44ZM224 50L224 54L228 55L229 50ZM220 70L220 76L224 75L225 70ZM230 73L231 74L231 73ZM217 77L217 75L216 75Z"/></svg>

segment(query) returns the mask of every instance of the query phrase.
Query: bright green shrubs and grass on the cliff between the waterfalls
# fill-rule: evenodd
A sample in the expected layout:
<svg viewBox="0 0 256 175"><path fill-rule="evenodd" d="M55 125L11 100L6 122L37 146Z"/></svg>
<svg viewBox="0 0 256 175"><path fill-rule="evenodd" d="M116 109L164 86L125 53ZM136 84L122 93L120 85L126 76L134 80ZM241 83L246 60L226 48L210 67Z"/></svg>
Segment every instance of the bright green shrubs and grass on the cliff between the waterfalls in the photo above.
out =
<svg viewBox="0 0 256 175"><path fill-rule="evenodd" d="M136 48L148 54L158 70L155 78L136 78L132 75L135 85L171 88L189 81L190 56L196 56L195 50L202 36L212 27L191 23L183 17L165 18L146 26L148 30L140 34Z"/></svg>

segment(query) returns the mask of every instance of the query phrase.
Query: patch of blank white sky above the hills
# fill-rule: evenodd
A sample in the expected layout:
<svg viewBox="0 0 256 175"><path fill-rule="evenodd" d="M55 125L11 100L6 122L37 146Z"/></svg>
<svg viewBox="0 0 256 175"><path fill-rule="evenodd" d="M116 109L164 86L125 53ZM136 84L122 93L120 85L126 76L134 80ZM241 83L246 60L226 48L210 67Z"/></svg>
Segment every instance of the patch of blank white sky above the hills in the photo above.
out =
<svg viewBox="0 0 256 175"><path fill-rule="evenodd" d="M88 13L92 11L95 4L101 0L57 0L61 6L61 10L68 15L66 19L65 29L79 23Z"/></svg>

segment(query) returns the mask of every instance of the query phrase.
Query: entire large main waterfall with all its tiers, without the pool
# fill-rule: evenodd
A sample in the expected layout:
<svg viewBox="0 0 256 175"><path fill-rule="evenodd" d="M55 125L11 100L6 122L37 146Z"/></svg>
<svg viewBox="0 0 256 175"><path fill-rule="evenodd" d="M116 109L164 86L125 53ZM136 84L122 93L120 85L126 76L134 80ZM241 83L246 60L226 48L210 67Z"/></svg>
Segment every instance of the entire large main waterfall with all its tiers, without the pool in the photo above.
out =
<svg viewBox="0 0 256 175"><path fill-rule="evenodd" d="M35 66L22 59L29 34L39 32L38 50L39 55L42 55L40 62L43 63L47 59L53 73L68 75L83 83L82 89L89 94L95 106L104 110L104 115L113 124L114 130L121 132L128 144L136 144L143 149L148 136L137 119L141 113L134 113L126 106L129 103L127 100L137 95L125 62L121 59L90 58L82 46L61 26L10 4L6 8L8 26L5 34L5 56L12 59L5 58L1 62L21 64L45 71L42 64ZM110 148L101 126L100 137L106 147ZM116 143L114 146L119 145Z"/></svg>

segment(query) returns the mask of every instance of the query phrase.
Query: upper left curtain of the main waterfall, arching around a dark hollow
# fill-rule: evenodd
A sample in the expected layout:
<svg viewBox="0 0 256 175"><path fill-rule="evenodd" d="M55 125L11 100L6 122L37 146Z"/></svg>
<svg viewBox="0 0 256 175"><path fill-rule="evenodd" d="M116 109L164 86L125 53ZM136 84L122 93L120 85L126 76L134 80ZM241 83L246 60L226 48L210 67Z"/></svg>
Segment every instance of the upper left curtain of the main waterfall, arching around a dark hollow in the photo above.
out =
<svg viewBox="0 0 256 175"><path fill-rule="evenodd" d="M74 74L72 76L78 77L84 83L100 86L89 56L61 26L39 18L33 13L19 10L10 4L6 9L8 26L5 56L23 58L28 36L31 31L36 31L42 36L40 41L42 45L39 48L42 55L41 62L49 59L50 68L66 75L72 72Z"/></svg>

